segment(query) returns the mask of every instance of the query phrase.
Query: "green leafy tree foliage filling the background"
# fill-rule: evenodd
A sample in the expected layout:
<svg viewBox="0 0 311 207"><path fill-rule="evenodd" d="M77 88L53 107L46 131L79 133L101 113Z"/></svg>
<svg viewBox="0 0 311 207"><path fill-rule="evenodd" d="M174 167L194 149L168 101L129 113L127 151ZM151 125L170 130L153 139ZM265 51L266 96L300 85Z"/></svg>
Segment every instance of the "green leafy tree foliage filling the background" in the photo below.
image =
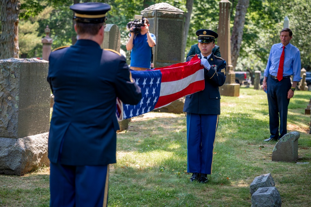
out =
<svg viewBox="0 0 311 207"><path fill-rule="evenodd" d="M71 45L75 32L73 30L73 12L70 5L89 0L22 0L20 13L19 41L21 55L26 58L41 57L40 39L45 36L44 29L49 25L50 37L53 38L52 49ZM133 20L135 14L155 3L167 2L186 11L186 0L97 0L111 5L108 12L108 24L116 24L121 32L121 49L125 50L128 40L126 24ZM231 24L233 26L237 0L232 0ZM270 48L279 43L279 31L283 28L285 16L290 19L293 31L291 43L301 52L302 67L310 70L311 65L311 0L250 0L246 13L243 41L236 70L263 71ZM196 30L218 29L219 0L194 0L185 55L190 46L197 43ZM232 27L231 26L231 27ZM27 44L26 44L27 43ZM217 44L217 42L216 42ZM129 53L127 53L129 54Z"/></svg>

